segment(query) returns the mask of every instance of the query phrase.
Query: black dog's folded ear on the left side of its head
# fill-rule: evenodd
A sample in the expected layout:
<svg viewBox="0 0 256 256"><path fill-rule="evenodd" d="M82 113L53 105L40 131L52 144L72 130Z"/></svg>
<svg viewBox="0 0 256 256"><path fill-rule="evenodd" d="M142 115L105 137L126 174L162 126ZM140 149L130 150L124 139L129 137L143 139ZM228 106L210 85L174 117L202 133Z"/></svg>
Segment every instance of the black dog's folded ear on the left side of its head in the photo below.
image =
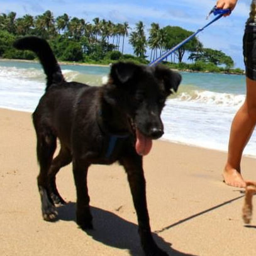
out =
<svg viewBox="0 0 256 256"><path fill-rule="evenodd" d="M135 75L135 70L138 65L130 62L118 62L113 64L110 70L110 78L113 79L114 84L124 84Z"/></svg>

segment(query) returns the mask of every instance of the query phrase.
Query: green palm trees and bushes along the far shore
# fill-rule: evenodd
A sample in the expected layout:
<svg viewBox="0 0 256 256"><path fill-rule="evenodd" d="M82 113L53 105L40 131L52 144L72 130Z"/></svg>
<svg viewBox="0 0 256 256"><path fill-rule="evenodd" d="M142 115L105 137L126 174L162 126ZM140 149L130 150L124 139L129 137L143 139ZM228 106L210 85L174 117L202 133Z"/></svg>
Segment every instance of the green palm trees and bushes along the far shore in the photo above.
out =
<svg viewBox="0 0 256 256"><path fill-rule="evenodd" d="M114 24L99 18L94 18L92 22L71 18L68 14L55 18L51 11L35 17L26 14L21 18L16 18L14 12L2 13L0 57L35 59L33 53L12 47L16 38L35 35L48 40L60 61L109 65L123 60L148 64L193 33L179 26L160 28L158 23L152 23L146 30L142 21L138 21L132 30L128 22ZM125 53L127 39L133 48L133 55ZM188 56L189 63L184 62L185 56ZM243 70L233 69L234 62L230 56L219 50L204 48L197 37L172 53L163 63L178 70L243 74Z"/></svg>

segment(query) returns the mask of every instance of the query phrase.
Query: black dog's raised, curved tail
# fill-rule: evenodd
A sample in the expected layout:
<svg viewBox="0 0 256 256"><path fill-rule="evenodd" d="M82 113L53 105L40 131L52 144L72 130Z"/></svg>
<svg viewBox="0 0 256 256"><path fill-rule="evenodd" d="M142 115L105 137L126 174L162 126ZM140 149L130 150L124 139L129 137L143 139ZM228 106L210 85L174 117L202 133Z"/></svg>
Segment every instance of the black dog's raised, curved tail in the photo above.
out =
<svg viewBox="0 0 256 256"><path fill-rule="evenodd" d="M25 36L16 40L13 46L19 50L31 50L36 53L47 75L46 91L52 84L65 81L60 66L46 40L36 36Z"/></svg>

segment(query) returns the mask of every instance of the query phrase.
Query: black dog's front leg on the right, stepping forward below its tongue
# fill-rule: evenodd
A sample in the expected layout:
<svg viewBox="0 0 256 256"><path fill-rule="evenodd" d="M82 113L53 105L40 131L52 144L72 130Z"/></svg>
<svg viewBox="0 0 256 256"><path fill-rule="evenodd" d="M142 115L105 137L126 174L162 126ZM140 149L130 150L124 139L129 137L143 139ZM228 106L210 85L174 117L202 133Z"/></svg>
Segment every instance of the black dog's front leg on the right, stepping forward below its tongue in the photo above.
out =
<svg viewBox="0 0 256 256"><path fill-rule="evenodd" d="M131 196L138 218L138 232L145 255L167 256L154 242L147 209L146 182L143 174L142 157L133 155L125 157L120 161L125 167L128 175L128 182L131 189Z"/></svg>

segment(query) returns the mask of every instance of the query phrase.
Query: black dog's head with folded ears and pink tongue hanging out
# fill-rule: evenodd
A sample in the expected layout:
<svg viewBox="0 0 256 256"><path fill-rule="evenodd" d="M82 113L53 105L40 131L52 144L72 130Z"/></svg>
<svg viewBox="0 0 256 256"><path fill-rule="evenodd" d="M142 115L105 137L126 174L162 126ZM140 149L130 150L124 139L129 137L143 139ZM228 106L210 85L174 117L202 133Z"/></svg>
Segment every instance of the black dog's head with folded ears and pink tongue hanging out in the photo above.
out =
<svg viewBox="0 0 256 256"><path fill-rule="evenodd" d="M180 82L179 73L160 65L148 67L119 62L111 67L109 84L125 94L121 99L125 99L123 105L135 126L136 151L140 155L149 153L152 140L164 134L160 114L165 100L177 91Z"/></svg>

